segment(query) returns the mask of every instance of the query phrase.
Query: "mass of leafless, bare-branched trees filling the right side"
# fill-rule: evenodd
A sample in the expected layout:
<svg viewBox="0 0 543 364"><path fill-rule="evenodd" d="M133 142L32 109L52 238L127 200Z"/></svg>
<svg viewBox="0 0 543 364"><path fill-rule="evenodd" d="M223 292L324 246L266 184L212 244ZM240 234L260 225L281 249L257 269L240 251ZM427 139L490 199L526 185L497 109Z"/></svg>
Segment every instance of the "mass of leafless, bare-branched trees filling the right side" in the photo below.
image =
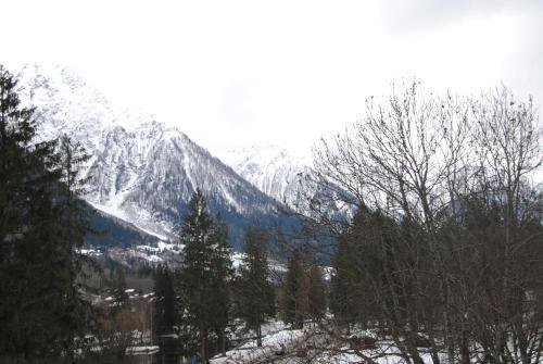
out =
<svg viewBox="0 0 543 364"><path fill-rule="evenodd" d="M539 363L543 346L542 163L531 99L479 98L419 83L367 100L316 152L315 184L339 225L331 309L345 329L374 327L405 362ZM323 193L325 196L325 193Z"/></svg>

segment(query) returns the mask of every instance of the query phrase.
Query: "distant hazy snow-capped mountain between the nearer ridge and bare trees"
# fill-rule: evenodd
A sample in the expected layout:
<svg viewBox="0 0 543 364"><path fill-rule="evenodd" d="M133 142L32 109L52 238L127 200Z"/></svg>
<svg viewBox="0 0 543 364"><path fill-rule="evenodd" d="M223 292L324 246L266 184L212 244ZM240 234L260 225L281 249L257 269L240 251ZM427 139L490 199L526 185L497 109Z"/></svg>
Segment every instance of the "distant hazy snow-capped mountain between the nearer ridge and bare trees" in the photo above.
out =
<svg viewBox="0 0 543 364"><path fill-rule="evenodd" d="M306 160L272 145L230 150L223 160L264 193L299 210L310 173Z"/></svg>

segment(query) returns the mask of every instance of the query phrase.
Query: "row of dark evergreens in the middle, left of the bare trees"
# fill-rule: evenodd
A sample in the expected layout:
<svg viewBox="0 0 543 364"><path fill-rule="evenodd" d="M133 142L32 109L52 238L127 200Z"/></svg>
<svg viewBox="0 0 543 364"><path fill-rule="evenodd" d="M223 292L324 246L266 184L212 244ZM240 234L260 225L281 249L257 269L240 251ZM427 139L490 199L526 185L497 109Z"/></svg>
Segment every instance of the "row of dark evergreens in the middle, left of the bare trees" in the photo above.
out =
<svg viewBox="0 0 543 364"><path fill-rule="evenodd" d="M219 215L210 214L199 190L181 226L181 265L159 265L155 274L153 334L164 362L182 356L206 363L214 354L225 354L229 338L243 328L242 337L254 338L261 347L262 325L277 311L300 328L306 319L324 317L323 272L307 254L291 254L281 284L269 267L269 233L254 224L245 231L244 254L235 269L227 227Z"/></svg>

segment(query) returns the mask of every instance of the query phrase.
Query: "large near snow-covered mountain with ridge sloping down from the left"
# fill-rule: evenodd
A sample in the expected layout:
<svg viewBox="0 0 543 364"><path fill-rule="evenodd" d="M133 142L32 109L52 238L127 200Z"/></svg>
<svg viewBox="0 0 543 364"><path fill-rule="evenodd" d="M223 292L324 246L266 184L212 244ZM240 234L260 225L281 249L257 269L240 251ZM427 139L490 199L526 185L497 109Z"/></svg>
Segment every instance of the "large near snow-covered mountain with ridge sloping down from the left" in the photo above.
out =
<svg viewBox="0 0 543 364"><path fill-rule="evenodd" d="M252 218L278 218L276 201L184 133L153 115L115 109L74 72L28 65L18 79L22 100L37 108L39 138L65 133L91 155L85 199L98 210L168 238L200 188L235 243Z"/></svg>

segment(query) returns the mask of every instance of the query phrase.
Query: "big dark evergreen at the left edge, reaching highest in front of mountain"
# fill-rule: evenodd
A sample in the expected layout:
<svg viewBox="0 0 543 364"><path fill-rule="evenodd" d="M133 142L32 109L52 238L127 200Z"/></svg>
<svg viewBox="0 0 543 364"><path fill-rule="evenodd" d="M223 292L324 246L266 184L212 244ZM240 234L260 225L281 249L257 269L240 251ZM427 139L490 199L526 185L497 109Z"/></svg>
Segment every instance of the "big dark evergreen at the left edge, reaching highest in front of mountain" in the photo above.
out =
<svg viewBox="0 0 543 364"><path fill-rule="evenodd" d="M64 154L55 140L33 142L34 110L15 88L0 66L0 356L71 362L90 319L76 285L85 216L68 202L77 190L63 179Z"/></svg>

